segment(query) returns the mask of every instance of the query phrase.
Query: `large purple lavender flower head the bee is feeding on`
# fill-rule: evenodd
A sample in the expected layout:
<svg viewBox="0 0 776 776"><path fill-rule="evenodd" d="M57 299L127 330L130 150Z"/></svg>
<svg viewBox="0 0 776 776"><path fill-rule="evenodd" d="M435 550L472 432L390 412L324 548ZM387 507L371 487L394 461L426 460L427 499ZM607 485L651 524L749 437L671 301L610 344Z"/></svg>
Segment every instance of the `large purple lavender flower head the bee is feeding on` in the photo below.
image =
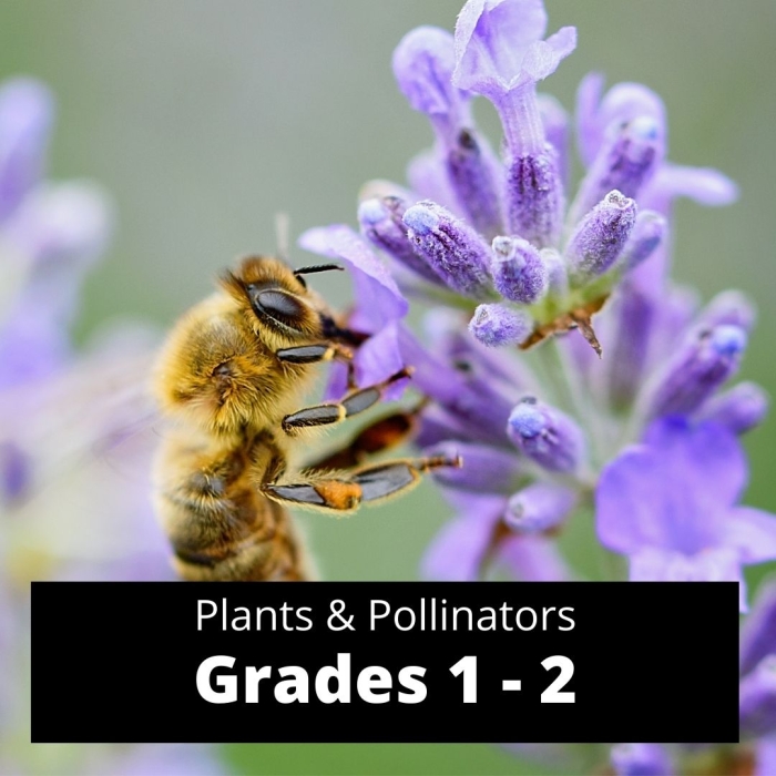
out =
<svg viewBox="0 0 776 776"><path fill-rule="evenodd" d="M541 0L469 0L452 42L436 28L410 32L394 70L436 144L411 161L409 190L375 194L385 182L368 184L359 207L366 238L411 270L397 273L397 294L431 306L425 343L397 324L384 357L415 369L426 402L417 445L463 459L435 473L456 517L422 573L578 576L555 538L570 524L584 530L578 512L593 510L595 539L627 560L631 579L735 580L746 611L743 569L776 559L776 518L739 504L747 464L737 437L768 404L754 384L729 385L754 309L735 292L700 309L668 277L676 197L718 206L737 188L668 161L655 92L604 91L591 74L576 98L584 172L574 191L566 113L537 84L573 51L575 31L545 32ZM500 160L472 122L478 95L501 120ZM704 749L721 772L732 762L742 773L776 767L775 600L768 588L744 629L751 741ZM619 745L611 769L684 773L700 756Z"/></svg>

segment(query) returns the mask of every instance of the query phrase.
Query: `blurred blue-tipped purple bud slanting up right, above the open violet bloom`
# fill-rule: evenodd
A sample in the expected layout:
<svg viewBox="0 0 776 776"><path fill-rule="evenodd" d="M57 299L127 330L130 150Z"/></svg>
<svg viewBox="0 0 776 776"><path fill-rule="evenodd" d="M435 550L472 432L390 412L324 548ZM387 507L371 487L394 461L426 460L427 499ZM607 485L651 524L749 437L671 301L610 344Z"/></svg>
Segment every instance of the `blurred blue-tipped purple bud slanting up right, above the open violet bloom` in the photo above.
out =
<svg viewBox="0 0 776 776"><path fill-rule="evenodd" d="M722 324L685 343L657 379L650 418L690 415L738 369L746 331Z"/></svg>

